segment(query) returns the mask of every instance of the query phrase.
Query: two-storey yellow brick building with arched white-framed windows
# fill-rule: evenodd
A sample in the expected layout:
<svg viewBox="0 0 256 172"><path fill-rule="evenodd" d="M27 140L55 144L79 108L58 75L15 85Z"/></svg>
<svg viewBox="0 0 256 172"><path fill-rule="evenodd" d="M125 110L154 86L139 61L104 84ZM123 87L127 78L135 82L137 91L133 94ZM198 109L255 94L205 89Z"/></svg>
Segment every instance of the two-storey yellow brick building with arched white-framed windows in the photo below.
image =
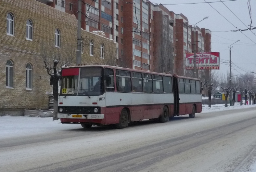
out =
<svg viewBox="0 0 256 172"><path fill-rule="evenodd" d="M35 0L1 0L0 23L0 115L48 109L52 87L39 58L41 45L77 46L76 17ZM92 45L84 43L83 64L102 64L101 44L116 51L113 40L85 30L82 37L93 41L93 55Z"/></svg>

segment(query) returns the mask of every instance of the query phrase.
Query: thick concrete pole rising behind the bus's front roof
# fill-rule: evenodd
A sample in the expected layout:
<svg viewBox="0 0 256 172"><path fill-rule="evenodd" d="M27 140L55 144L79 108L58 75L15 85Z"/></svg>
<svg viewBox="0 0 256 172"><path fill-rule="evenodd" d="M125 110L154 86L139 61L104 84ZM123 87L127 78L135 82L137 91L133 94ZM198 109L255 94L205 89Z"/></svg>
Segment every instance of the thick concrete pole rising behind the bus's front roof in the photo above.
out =
<svg viewBox="0 0 256 172"><path fill-rule="evenodd" d="M81 20L82 20L82 0L78 0L77 6L77 51L76 51L76 65L81 64L82 44L81 44Z"/></svg>

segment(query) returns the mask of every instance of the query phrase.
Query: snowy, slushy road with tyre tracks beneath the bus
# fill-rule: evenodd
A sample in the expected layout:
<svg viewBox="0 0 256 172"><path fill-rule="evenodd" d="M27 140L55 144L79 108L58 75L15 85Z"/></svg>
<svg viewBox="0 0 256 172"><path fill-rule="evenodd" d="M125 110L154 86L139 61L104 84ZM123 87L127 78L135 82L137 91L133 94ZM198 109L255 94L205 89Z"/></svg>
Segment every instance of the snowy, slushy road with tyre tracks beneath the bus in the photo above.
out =
<svg viewBox="0 0 256 172"><path fill-rule="evenodd" d="M65 124L63 124L65 125ZM126 129L80 126L0 136L1 172L240 172L256 157L256 107L142 121Z"/></svg>

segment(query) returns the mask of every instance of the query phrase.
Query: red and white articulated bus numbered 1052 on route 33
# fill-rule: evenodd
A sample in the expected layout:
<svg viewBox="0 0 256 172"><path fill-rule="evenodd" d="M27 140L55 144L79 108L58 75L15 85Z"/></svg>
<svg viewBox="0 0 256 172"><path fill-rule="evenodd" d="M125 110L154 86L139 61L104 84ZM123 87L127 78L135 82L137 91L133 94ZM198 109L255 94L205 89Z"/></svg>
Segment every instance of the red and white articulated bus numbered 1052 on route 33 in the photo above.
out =
<svg viewBox="0 0 256 172"><path fill-rule="evenodd" d="M202 111L200 80L106 65L64 67L58 110L61 123L84 128L194 118Z"/></svg>

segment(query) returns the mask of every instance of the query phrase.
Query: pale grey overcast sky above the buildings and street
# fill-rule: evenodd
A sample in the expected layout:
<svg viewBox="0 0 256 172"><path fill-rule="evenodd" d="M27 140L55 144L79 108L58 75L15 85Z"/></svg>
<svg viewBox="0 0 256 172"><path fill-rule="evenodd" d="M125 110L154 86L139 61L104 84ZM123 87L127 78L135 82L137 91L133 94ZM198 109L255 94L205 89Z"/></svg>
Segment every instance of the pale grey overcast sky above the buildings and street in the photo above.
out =
<svg viewBox="0 0 256 172"><path fill-rule="evenodd" d="M204 0L150 0L151 2L161 4L177 4L177 3L196 3L205 2ZM164 5L169 11L175 14L184 14L188 18L190 25L202 20L204 17L209 16L208 19L197 24L200 28L206 28L212 31L212 52L220 52L220 72L226 73L229 71L229 66L223 62L229 62L229 46L231 47L231 61L232 73L244 74L246 72L256 72L256 29L241 32L217 32L227 30L247 29L250 25L249 10L247 7L248 0L238 0L231 2L224 2L224 4L246 25L244 25L237 17L230 12L230 10L221 2L225 0L206 0L206 2L217 3L204 3L204 4L188 4L188 5ZM215 8L216 10L214 10ZM256 27L256 1L251 1L252 25ZM229 20L230 24L221 14ZM245 35L249 38L247 38ZM254 43L255 42L255 43ZM226 65L225 65L226 64ZM235 66L237 65L237 66Z"/></svg>

